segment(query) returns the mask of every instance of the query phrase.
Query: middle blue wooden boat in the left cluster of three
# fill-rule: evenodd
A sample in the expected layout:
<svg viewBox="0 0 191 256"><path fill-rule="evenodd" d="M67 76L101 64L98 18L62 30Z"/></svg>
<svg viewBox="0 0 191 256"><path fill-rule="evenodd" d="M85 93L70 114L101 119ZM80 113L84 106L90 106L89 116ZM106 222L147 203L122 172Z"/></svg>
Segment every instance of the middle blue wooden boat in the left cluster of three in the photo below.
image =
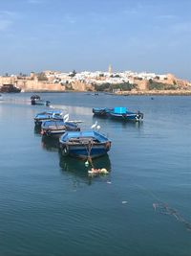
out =
<svg viewBox="0 0 191 256"><path fill-rule="evenodd" d="M41 134L46 137L59 138L66 131L79 131L77 124L61 120L47 120L41 125Z"/></svg>

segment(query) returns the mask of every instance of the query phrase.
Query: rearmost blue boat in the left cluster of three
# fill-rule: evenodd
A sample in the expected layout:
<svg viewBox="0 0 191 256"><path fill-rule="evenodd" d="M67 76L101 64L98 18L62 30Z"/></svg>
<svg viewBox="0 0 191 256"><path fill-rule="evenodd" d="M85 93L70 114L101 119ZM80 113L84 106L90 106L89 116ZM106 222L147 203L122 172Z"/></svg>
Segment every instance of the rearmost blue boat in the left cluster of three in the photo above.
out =
<svg viewBox="0 0 191 256"><path fill-rule="evenodd" d="M61 110L48 110L38 113L34 117L34 124L35 126L40 127L42 123L47 120L63 121L62 114Z"/></svg>

